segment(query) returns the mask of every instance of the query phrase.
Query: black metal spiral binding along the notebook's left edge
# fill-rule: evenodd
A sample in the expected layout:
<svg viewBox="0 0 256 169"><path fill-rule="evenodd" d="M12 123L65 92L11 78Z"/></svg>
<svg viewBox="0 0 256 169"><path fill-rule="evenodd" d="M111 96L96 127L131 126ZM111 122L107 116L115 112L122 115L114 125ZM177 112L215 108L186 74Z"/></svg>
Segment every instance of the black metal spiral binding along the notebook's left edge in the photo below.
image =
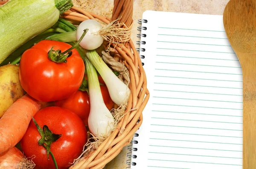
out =
<svg viewBox="0 0 256 169"><path fill-rule="evenodd" d="M139 24L142 24L142 23L148 23L148 20L145 20L145 19L139 19L138 20L138 23ZM147 30L147 27L145 27L145 26L138 26L137 27L137 30L138 31L145 31L145 30ZM146 34L137 34L137 37L146 37L147 35ZM137 45L140 45L140 46L143 46L143 45L145 45L146 44L146 41L145 40L139 40L139 41L136 41L136 44ZM143 47L139 47L139 48L136 48L136 50L138 51L138 52L145 52L145 48L143 48ZM140 58L141 59L145 59L145 55L144 54L140 54ZM142 66L144 66L144 63L142 62ZM140 120L138 119L137 120L137 123L139 123L140 122ZM134 133L134 139L136 138L136 137L139 137L139 134L138 133ZM138 144L138 141L137 140L131 140L131 144ZM131 146L128 146L127 147L127 149L128 149L128 151L130 151L130 152L128 152L127 153L127 158L128 158L128 160L126 160L126 164L128 165L127 167L126 167L126 169L131 169L131 166L136 166L136 163L135 162L133 162L132 161L132 159L134 159L134 158L137 158L137 155L135 155L134 154L134 152L137 152L137 148L135 148L135 147L133 147L132 145Z"/></svg>

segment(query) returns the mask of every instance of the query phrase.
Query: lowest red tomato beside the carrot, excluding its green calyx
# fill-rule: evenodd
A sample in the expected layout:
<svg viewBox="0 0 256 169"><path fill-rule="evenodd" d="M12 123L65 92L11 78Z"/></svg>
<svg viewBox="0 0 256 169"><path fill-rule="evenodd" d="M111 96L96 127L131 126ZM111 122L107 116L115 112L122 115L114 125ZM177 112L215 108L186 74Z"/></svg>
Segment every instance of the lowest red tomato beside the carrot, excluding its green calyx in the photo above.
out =
<svg viewBox="0 0 256 169"><path fill-rule="evenodd" d="M61 107L47 107L41 109L35 115L35 121L43 129L44 125L54 134L62 135L50 146L50 151L55 157L59 169L67 169L78 158L83 151L84 144L87 142L87 129L78 115L68 109ZM33 162L35 169L55 169L52 157L43 146L38 145L41 135L33 120L20 141L21 148L26 157L35 155Z"/></svg>

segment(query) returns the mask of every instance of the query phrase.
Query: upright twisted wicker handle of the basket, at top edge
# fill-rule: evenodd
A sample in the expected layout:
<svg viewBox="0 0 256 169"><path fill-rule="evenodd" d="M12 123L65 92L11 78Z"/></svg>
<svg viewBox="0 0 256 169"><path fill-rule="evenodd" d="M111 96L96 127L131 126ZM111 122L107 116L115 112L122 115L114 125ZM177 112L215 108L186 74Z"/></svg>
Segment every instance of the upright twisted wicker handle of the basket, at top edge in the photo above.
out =
<svg viewBox="0 0 256 169"><path fill-rule="evenodd" d="M114 0L111 21L119 18L119 23L124 23L127 27L130 27L133 23L133 1Z"/></svg>

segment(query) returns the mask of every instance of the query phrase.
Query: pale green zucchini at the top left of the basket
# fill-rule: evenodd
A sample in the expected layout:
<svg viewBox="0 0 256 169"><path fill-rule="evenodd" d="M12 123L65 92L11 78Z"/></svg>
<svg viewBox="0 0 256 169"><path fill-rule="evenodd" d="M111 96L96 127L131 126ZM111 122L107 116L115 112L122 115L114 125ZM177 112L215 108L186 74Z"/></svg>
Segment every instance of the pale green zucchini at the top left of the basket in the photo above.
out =
<svg viewBox="0 0 256 169"><path fill-rule="evenodd" d="M0 63L36 35L53 26L72 0L10 0L0 7Z"/></svg>

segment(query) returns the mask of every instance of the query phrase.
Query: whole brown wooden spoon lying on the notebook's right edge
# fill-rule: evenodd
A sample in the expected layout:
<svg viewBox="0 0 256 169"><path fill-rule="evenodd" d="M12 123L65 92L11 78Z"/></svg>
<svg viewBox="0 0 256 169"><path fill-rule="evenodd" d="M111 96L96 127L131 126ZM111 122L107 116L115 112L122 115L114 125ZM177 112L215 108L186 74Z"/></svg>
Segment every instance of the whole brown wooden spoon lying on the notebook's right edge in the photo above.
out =
<svg viewBox="0 0 256 169"><path fill-rule="evenodd" d="M256 0L230 0L223 23L243 72L243 169L256 169Z"/></svg>

